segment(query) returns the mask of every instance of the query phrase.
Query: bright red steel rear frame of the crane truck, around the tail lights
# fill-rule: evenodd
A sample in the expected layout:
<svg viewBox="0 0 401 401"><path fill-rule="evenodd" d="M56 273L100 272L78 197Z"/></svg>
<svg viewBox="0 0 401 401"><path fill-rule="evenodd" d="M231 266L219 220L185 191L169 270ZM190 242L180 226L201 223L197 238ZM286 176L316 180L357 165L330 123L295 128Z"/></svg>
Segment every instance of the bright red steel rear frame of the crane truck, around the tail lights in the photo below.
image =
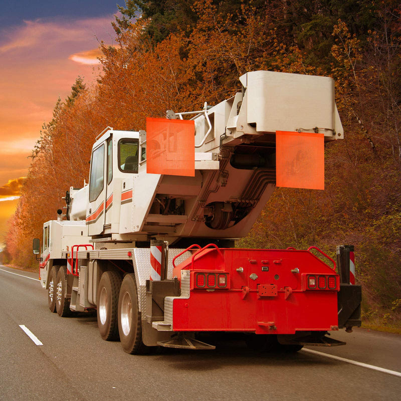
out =
<svg viewBox="0 0 401 401"><path fill-rule="evenodd" d="M192 248L200 248L192 246ZM310 251L218 248L208 245L177 266L173 276L190 271L189 298L173 300L174 331L240 331L294 334L327 331L338 326L339 276ZM182 253L181 253L182 254ZM175 262L174 258L174 262ZM262 270L262 267L264 270ZM266 268L268 268L266 270ZM196 288L194 275L226 273L228 288ZM308 289L307 277L336 277L333 289ZM276 288L277 291L259 291Z"/></svg>

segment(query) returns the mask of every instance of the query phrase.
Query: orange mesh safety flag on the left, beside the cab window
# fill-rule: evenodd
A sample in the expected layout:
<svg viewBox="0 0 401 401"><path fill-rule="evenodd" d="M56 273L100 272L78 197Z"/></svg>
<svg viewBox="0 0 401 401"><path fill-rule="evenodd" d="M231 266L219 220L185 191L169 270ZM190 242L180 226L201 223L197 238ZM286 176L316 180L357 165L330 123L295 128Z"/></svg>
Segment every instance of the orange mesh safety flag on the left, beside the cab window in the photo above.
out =
<svg viewBox="0 0 401 401"><path fill-rule="evenodd" d="M193 120L146 118L146 172L195 175Z"/></svg>

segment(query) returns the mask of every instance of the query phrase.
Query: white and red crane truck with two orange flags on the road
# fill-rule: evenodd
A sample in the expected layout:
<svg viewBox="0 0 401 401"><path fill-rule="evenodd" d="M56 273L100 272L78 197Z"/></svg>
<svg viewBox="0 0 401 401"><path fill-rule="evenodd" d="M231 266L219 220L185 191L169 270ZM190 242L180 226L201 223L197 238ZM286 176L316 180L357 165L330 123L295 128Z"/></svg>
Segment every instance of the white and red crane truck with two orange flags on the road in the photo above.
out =
<svg viewBox="0 0 401 401"><path fill-rule="evenodd" d="M343 138L334 82L271 71L240 81L214 107L97 136L89 183L44 224L50 311L96 310L101 337L132 354L213 349L202 334L218 332L297 351L344 344L328 332L360 326L351 246L337 263L314 246L235 247L276 186L324 188L324 144Z"/></svg>

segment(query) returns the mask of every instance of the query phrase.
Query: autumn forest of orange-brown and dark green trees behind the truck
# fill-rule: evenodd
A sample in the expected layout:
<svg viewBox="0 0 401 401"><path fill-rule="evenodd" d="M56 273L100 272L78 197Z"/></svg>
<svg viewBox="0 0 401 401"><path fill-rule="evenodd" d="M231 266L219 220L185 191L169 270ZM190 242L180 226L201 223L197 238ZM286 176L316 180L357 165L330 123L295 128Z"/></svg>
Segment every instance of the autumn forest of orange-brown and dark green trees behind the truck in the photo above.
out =
<svg viewBox="0 0 401 401"><path fill-rule="evenodd" d="M241 90L255 70L330 76L345 139L325 148L325 190L277 188L237 246L331 256L355 246L365 322L401 326L401 6L395 0L126 0L101 44L102 72L58 99L33 149L5 262L38 268L32 239L89 176L106 127L194 110ZM39 136L39 133L38 133Z"/></svg>

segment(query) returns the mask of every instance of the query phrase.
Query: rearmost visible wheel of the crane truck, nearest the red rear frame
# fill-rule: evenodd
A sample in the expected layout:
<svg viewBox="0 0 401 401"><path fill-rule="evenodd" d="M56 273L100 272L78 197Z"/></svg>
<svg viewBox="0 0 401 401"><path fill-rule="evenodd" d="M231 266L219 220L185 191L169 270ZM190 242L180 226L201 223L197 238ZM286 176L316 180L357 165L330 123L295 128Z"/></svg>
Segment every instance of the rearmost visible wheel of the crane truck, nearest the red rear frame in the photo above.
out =
<svg viewBox="0 0 401 401"><path fill-rule="evenodd" d="M141 312L134 274L127 274L121 284L118 299L118 332L121 345L129 354L145 354L151 347L142 342Z"/></svg>

